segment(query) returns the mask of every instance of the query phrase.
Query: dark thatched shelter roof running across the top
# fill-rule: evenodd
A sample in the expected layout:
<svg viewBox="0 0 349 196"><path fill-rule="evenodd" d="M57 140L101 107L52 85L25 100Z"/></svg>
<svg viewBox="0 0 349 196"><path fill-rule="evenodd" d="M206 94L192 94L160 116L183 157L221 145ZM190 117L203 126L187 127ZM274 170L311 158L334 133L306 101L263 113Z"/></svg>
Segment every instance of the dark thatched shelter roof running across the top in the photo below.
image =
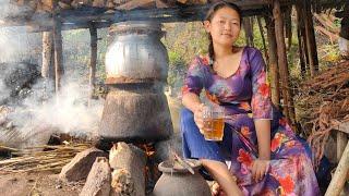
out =
<svg viewBox="0 0 349 196"><path fill-rule="evenodd" d="M1 5L7 13L0 15L2 26L29 26L46 30L52 26L52 13L59 13L63 29L108 27L123 21L157 20L160 22L200 21L215 0L10 0ZM229 0L241 7L243 15L267 13L270 0ZM281 8L297 0L280 0ZM347 0L312 0L316 11L339 9ZM55 7L56 5L56 7ZM56 9L53 9L53 7ZM53 12L53 10L56 12Z"/></svg>

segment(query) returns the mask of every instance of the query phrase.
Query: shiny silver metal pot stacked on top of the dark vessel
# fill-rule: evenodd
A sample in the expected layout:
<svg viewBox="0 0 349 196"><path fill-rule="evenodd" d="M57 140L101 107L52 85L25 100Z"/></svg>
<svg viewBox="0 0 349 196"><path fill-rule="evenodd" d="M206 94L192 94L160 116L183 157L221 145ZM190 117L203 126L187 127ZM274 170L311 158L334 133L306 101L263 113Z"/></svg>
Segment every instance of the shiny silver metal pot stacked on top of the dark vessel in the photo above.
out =
<svg viewBox="0 0 349 196"><path fill-rule="evenodd" d="M115 40L106 53L107 84L166 82L168 56L159 23L124 22L112 30Z"/></svg>

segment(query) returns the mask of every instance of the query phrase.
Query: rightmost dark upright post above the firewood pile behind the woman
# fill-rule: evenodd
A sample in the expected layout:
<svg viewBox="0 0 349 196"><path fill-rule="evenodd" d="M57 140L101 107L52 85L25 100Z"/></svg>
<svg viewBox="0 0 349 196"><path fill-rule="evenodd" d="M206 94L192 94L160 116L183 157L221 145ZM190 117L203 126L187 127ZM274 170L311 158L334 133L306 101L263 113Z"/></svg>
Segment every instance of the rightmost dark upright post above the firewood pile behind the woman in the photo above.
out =
<svg viewBox="0 0 349 196"><path fill-rule="evenodd" d="M318 71L318 59L315 40L315 32L313 24L313 15L311 11L311 2L303 1L303 20L305 26L306 52L309 58L310 75L315 76Z"/></svg>

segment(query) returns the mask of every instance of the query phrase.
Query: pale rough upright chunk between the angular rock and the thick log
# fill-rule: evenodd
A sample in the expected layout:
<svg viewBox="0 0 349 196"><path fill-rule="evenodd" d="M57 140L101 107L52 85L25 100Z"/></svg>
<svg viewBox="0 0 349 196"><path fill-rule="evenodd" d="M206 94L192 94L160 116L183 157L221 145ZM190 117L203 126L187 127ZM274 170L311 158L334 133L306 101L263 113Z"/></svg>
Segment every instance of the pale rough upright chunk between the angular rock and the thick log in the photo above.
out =
<svg viewBox="0 0 349 196"><path fill-rule="evenodd" d="M105 157L97 157L80 196L109 196L110 181L108 159Z"/></svg>

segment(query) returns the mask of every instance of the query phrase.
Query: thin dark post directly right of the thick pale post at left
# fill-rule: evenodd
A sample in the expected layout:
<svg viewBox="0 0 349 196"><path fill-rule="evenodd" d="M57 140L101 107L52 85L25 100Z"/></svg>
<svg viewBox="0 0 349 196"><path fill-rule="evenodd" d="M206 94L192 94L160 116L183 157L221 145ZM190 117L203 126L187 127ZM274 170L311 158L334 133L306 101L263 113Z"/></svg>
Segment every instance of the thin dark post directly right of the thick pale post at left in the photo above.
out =
<svg viewBox="0 0 349 196"><path fill-rule="evenodd" d="M56 72L56 93L60 90L61 77L64 74L63 69L63 52L62 52L62 29L59 15L58 0L52 1L53 8L53 42L55 42L55 72Z"/></svg>

